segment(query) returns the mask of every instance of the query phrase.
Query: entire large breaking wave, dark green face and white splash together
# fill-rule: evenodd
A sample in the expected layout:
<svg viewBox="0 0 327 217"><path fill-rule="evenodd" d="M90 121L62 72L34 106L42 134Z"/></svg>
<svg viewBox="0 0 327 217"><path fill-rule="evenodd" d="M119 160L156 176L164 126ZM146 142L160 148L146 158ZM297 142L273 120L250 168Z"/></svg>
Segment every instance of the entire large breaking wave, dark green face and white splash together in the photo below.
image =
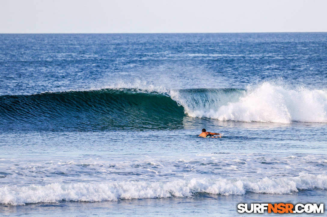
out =
<svg viewBox="0 0 327 217"><path fill-rule="evenodd" d="M264 82L246 90L123 88L0 96L2 129L176 129L185 118L326 123L327 91Z"/></svg>

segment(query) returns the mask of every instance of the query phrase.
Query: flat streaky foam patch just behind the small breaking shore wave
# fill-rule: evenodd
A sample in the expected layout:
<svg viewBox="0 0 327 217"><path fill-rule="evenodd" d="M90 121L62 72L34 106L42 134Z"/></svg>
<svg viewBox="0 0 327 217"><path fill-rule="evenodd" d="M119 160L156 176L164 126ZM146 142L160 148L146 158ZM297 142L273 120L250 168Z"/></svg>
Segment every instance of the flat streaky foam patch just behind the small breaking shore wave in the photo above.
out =
<svg viewBox="0 0 327 217"><path fill-rule="evenodd" d="M299 172L327 175L325 155L213 153L117 159L7 159L0 163L0 185L69 183L71 181L174 181L193 178L294 177ZM9 184L10 183L10 184Z"/></svg>

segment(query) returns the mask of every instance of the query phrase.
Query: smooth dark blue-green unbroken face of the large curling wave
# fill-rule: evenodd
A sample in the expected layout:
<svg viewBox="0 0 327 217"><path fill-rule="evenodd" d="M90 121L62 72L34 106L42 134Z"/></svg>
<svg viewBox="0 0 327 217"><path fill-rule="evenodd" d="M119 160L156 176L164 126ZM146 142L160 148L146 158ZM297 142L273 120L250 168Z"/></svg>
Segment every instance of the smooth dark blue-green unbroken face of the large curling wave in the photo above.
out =
<svg viewBox="0 0 327 217"><path fill-rule="evenodd" d="M132 89L1 96L0 104L7 129L165 129L184 116L165 94Z"/></svg>

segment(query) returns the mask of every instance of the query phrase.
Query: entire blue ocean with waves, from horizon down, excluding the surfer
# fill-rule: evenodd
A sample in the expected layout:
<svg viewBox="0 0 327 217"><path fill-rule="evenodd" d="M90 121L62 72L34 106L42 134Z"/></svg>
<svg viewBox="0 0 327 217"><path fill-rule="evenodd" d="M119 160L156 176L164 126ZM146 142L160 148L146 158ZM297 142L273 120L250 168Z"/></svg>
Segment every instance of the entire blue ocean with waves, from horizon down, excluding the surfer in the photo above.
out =
<svg viewBox="0 0 327 217"><path fill-rule="evenodd" d="M327 203L326 130L327 33L0 34L2 216Z"/></svg>

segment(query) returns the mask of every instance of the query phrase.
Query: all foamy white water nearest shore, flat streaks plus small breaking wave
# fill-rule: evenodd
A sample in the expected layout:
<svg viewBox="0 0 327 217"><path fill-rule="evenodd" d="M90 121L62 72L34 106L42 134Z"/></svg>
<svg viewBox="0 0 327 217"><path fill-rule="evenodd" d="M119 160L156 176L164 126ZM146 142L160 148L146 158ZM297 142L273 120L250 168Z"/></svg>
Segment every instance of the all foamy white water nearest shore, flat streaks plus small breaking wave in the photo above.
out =
<svg viewBox="0 0 327 217"><path fill-rule="evenodd" d="M2 178L15 186L0 188L0 202L25 205L193 197L197 193L291 194L299 190L327 189L327 173L317 166L327 164L327 158L319 154L279 157L220 153L188 156L187 159L147 157L145 160L119 161L98 158L70 162L11 160L6 164L12 165L10 170L7 169ZM0 162L4 167L4 159ZM301 172L295 172L297 169ZM261 170L260 176L253 175ZM124 177L127 174L129 181ZM72 182L70 176L79 181ZM107 180L108 176L110 180ZM26 186L27 183L30 185Z"/></svg>

